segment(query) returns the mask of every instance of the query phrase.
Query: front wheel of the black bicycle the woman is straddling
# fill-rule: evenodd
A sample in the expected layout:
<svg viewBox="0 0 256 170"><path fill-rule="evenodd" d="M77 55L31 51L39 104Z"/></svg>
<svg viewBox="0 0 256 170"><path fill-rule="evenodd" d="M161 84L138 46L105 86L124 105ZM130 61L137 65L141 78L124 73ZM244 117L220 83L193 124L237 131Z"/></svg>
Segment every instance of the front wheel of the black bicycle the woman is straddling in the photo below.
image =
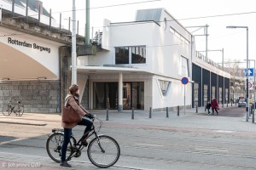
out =
<svg viewBox="0 0 256 170"><path fill-rule="evenodd" d="M119 160L120 147L115 139L102 135L90 141L87 155L96 167L107 168Z"/></svg>

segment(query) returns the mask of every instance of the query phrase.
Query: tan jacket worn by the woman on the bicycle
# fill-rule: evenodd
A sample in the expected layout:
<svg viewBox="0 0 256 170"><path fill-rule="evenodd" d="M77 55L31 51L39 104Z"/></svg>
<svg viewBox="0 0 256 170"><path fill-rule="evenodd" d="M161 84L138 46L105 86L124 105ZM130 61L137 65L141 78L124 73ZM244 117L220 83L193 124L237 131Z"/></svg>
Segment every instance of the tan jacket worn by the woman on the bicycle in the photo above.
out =
<svg viewBox="0 0 256 170"><path fill-rule="evenodd" d="M89 113L82 107L82 105L78 105L76 100L74 99L72 94L67 94L66 99L65 99L65 106L70 105L73 107L75 111L81 116L86 115L86 113ZM73 128L77 125L78 123L67 123L67 122L61 122L61 126L64 128Z"/></svg>

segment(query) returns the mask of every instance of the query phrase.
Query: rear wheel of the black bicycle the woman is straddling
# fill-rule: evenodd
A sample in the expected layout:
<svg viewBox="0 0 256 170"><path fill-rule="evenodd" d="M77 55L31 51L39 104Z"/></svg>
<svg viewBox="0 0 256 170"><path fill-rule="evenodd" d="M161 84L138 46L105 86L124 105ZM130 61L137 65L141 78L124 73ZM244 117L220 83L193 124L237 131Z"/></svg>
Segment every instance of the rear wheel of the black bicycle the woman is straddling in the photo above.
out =
<svg viewBox="0 0 256 170"><path fill-rule="evenodd" d="M64 134L61 132L51 133L46 141L46 150L49 157L58 163L61 162L61 147L64 141ZM66 157L70 156L71 148L73 145L71 142L67 144L67 154Z"/></svg>

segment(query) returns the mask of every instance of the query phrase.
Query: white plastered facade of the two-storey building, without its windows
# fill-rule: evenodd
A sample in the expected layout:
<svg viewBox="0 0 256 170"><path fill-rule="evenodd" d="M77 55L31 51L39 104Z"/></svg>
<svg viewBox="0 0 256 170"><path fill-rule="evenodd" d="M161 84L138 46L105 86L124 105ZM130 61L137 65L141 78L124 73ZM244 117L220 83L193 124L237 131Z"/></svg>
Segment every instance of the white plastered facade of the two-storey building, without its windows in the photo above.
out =
<svg viewBox="0 0 256 170"><path fill-rule="evenodd" d="M152 9L149 9L152 10ZM154 10L154 9L153 9ZM166 9L158 8L160 20L136 21L128 23L110 23L105 20L102 32L102 48L105 51L96 56L84 56L79 58L79 73L90 75L90 82L117 82L119 72L123 73L123 82L144 82L144 110L150 107L153 110L177 105L191 105L191 60L194 57L195 45L193 37L183 26L174 21ZM119 66L131 67L131 71L125 71L124 67L116 67L115 48L119 47L146 47L146 62L141 64L125 64ZM181 58L188 61L188 74L182 74ZM97 65L92 67L90 65ZM104 65L112 65L117 69L110 71ZM104 70L104 71L102 71ZM104 74L108 73L108 75ZM181 79L189 78L189 83L183 85ZM160 81L170 82L171 86L166 94L162 93ZM92 84L90 85L92 87ZM184 89L185 88L185 89ZM184 94L185 93L185 94ZM92 98L90 98L93 100ZM92 101L90 102L93 103ZM90 105L92 107L92 105Z"/></svg>

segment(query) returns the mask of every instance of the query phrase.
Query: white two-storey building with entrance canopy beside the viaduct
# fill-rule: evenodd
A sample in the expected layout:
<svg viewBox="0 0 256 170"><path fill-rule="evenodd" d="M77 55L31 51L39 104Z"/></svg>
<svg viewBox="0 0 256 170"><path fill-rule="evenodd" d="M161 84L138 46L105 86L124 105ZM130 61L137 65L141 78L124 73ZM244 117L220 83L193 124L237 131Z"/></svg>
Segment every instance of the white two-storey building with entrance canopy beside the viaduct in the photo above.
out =
<svg viewBox="0 0 256 170"><path fill-rule="evenodd" d="M90 109L162 110L184 105L184 94L191 106L194 37L165 8L138 10L134 22L104 20L101 45L96 56L79 57Z"/></svg>

